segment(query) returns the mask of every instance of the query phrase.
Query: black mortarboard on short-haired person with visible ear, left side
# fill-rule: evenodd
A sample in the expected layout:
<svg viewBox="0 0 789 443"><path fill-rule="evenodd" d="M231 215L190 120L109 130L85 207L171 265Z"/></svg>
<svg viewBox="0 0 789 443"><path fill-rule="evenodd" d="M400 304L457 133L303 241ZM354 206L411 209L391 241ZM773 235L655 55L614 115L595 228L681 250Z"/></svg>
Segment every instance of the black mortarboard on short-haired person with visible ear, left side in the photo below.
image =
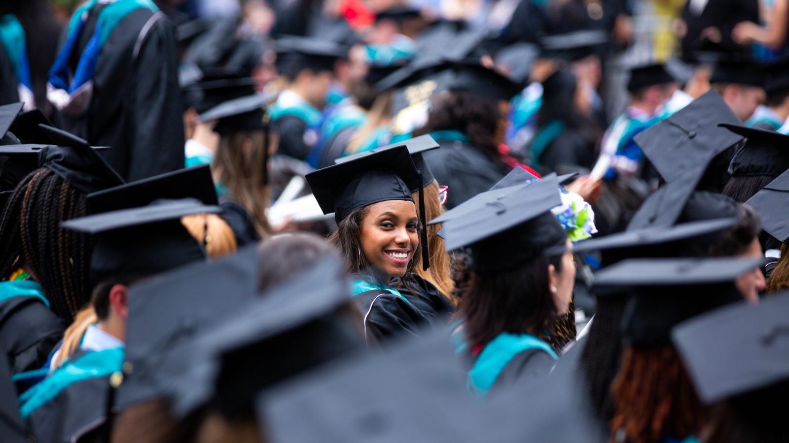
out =
<svg viewBox="0 0 789 443"><path fill-rule="evenodd" d="M159 199L144 207L73 218L61 227L96 236L91 277L98 284L110 277L147 277L205 259L202 245L181 225L181 217L219 210L196 199Z"/></svg>

